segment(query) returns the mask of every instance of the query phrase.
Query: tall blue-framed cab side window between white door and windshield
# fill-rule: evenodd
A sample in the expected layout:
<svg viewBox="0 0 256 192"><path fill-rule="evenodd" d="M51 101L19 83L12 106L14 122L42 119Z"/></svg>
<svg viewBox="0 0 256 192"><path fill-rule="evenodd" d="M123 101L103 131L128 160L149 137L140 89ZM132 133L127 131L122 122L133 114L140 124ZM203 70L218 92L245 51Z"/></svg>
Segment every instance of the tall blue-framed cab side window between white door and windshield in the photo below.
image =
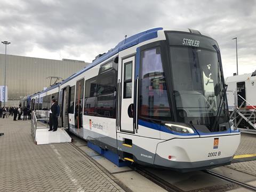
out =
<svg viewBox="0 0 256 192"><path fill-rule="evenodd" d="M172 116L160 47L141 52L140 78L140 117L170 120Z"/></svg>

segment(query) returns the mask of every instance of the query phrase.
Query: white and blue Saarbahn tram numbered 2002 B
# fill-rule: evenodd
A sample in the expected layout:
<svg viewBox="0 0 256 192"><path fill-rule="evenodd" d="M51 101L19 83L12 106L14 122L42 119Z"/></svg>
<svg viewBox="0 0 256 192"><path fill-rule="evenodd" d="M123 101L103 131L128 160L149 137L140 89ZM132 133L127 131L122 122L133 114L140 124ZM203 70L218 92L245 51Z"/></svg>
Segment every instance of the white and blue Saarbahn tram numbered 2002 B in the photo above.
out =
<svg viewBox="0 0 256 192"><path fill-rule="evenodd" d="M143 31L49 89L32 108L58 94L59 126L119 162L203 170L230 164L239 145L218 43L197 30Z"/></svg>

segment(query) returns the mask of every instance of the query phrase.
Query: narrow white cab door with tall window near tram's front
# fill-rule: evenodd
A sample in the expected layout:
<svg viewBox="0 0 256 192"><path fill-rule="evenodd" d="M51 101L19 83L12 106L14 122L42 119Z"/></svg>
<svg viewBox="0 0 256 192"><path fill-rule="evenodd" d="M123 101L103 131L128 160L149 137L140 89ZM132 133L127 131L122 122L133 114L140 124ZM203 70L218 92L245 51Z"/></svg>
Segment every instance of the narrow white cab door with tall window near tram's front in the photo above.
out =
<svg viewBox="0 0 256 192"><path fill-rule="evenodd" d="M129 133L134 133L134 58L130 57L122 61L122 81L119 83L121 87L119 128L120 131Z"/></svg>

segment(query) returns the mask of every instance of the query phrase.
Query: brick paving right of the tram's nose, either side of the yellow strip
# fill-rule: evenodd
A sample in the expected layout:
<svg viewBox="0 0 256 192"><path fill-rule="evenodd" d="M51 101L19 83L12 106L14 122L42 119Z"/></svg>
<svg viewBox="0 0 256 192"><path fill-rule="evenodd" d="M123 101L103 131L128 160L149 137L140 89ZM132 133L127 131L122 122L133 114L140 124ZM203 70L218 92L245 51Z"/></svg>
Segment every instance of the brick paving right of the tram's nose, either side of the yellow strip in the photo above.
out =
<svg viewBox="0 0 256 192"><path fill-rule="evenodd" d="M244 155L244 154L256 154L256 135L255 134L246 134L246 133L241 134L241 143L236 151L236 155ZM256 161L233 163L227 167L256 176Z"/></svg>

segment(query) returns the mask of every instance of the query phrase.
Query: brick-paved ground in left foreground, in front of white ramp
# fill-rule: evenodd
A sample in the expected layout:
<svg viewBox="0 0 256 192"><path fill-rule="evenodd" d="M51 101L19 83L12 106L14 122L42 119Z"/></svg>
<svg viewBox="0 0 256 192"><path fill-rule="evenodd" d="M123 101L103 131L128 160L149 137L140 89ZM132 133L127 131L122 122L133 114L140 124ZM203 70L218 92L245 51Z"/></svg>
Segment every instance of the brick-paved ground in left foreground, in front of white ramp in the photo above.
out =
<svg viewBox="0 0 256 192"><path fill-rule="evenodd" d="M0 119L0 191L124 191L69 143L35 145L29 121Z"/></svg>

